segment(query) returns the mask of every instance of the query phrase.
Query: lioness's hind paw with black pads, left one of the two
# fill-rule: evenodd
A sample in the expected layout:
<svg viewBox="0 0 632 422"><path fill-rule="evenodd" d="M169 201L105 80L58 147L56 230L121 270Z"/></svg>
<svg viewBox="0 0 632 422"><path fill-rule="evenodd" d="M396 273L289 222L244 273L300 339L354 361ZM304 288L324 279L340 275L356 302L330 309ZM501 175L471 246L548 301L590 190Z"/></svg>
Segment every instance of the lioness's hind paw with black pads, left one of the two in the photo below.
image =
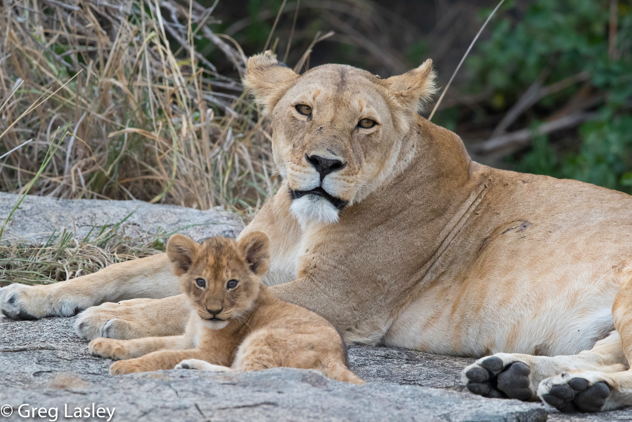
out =
<svg viewBox="0 0 632 422"><path fill-rule="evenodd" d="M528 364L515 354L497 353L483 357L463 369L461 380L474 394L494 399L530 400L536 397Z"/></svg>

